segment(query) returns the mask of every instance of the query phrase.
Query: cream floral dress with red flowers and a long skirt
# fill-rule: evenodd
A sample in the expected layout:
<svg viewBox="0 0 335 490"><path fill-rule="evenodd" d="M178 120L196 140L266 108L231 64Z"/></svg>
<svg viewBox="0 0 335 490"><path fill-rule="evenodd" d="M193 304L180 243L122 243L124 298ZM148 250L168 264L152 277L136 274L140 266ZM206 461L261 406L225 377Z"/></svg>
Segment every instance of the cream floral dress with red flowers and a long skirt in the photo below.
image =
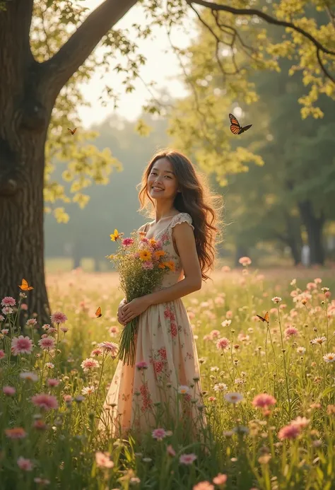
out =
<svg viewBox="0 0 335 490"><path fill-rule="evenodd" d="M184 276L172 243L172 228L182 222L194 229L191 216L180 213L153 237L175 262L175 269L165 274L156 290L172 286ZM187 419L192 424L192 433L199 433L206 424L199 362L192 326L182 300L149 306L139 315L136 337L135 365L127 366L119 361L99 428L110 436L119 437L127 435L131 429L139 433L158 427L170 430L177 420ZM146 368L136 368L136 363L143 361Z"/></svg>

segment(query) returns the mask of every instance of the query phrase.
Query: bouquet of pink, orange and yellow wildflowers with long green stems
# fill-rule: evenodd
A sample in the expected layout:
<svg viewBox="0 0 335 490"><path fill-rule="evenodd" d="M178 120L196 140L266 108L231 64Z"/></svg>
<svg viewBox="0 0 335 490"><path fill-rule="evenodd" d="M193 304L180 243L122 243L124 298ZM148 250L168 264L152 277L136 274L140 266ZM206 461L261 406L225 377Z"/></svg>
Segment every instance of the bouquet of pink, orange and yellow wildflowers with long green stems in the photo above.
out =
<svg viewBox="0 0 335 490"><path fill-rule="evenodd" d="M175 263L167 257L162 243L144 235L146 233L133 231L131 238L122 238L123 233L114 230L110 235L112 241L119 243L114 255L107 258L119 272L120 288L124 291L127 303L153 292L159 286L164 274L175 269ZM139 317L131 320L122 330L119 342L119 358L124 364L135 363L135 335Z"/></svg>

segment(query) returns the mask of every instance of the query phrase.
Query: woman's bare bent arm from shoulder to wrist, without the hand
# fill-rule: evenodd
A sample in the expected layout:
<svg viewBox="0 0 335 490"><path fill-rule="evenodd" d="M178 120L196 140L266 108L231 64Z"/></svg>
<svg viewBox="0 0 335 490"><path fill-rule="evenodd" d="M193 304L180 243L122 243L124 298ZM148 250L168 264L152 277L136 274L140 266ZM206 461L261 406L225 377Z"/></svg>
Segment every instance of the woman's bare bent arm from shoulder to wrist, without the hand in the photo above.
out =
<svg viewBox="0 0 335 490"><path fill-rule="evenodd" d="M201 269L191 226L187 223L179 223L173 228L172 233L185 277L169 288L143 296L148 301L148 305L167 303L201 289Z"/></svg>

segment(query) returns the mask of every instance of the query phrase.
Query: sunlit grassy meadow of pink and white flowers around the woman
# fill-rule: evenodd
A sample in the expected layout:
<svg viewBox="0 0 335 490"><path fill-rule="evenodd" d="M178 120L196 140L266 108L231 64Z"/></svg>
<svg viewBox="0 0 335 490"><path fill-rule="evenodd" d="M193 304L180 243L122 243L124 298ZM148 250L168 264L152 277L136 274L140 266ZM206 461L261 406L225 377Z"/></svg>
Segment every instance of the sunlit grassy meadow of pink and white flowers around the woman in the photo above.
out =
<svg viewBox="0 0 335 490"><path fill-rule="evenodd" d="M335 489L330 274L266 279L241 262L183 299L207 420L196 441L159 420L141 441L98 431L122 332L114 274L49 276L45 325L30 291L0 298L0 489Z"/></svg>

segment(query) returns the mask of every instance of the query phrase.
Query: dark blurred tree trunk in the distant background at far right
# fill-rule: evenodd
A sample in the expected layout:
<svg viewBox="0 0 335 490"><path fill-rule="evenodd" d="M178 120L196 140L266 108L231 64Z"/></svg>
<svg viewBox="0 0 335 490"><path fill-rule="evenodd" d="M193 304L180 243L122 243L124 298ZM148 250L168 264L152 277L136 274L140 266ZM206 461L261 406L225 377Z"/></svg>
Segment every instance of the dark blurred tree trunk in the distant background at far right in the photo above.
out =
<svg viewBox="0 0 335 490"><path fill-rule="evenodd" d="M308 245L310 245L310 263L324 264L324 247L322 243L324 214L315 216L312 203L307 199L298 204L302 223L304 223L308 236Z"/></svg>

